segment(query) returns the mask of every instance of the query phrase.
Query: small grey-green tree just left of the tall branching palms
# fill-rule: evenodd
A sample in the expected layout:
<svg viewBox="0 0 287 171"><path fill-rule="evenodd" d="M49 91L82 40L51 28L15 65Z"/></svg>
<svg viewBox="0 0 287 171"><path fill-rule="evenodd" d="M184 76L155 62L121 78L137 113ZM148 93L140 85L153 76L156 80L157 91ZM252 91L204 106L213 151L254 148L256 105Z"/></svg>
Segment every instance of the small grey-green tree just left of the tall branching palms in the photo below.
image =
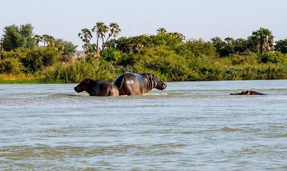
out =
<svg viewBox="0 0 287 171"><path fill-rule="evenodd" d="M71 41L63 39L55 40L55 47L58 49L60 54L71 56L76 52L77 45L74 45Z"/></svg>

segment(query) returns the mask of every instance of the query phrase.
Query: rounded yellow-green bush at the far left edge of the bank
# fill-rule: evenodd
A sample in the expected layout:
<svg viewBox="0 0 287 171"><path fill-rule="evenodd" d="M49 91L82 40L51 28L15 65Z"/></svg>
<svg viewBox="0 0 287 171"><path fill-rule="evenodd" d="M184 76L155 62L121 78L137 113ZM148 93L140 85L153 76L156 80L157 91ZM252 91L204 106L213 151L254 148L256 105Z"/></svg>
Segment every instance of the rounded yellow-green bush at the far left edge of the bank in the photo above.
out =
<svg viewBox="0 0 287 171"><path fill-rule="evenodd" d="M23 69L23 65L17 58L5 58L0 60L0 73L18 74Z"/></svg>

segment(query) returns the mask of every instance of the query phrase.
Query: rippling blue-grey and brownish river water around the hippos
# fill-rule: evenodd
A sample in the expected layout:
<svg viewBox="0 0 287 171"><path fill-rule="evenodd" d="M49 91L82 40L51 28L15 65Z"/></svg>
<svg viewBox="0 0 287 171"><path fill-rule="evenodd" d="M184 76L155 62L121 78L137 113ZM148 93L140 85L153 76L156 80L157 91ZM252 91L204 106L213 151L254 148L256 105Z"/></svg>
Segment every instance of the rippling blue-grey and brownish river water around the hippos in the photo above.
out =
<svg viewBox="0 0 287 171"><path fill-rule="evenodd" d="M0 170L287 170L287 80L167 84L0 85ZM269 95L229 95L243 90Z"/></svg>

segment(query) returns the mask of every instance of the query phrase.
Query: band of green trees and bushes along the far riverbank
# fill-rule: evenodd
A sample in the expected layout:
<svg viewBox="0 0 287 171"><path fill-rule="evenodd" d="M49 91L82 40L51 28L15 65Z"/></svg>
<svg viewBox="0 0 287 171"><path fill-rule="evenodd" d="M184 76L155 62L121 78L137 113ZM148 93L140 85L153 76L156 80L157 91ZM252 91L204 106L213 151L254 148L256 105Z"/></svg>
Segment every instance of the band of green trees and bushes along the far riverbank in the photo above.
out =
<svg viewBox="0 0 287 171"><path fill-rule="evenodd" d="M0 83L76 83L85 77L113 81L123 72L150 72L164 81L287 79L287 39L274 45L268 29L247 39L211 41L163 28L155 35L117 38L120 31L115 23L101 22L82 29L78 35L87 56L73 59L73 43L34 35L30 24L7 26L0 41Z"/></svg>

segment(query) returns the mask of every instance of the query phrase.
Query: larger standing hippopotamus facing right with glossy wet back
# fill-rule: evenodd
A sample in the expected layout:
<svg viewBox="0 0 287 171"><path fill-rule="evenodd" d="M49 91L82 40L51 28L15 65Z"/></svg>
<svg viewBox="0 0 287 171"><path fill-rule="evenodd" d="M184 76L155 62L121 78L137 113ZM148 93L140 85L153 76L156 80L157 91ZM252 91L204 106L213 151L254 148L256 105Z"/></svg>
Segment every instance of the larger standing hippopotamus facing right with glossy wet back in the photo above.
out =
<svg viewBox="0 0 287 171"><path fill-rule="evenodd" d="M114 80L114 84L118 87L120 96L142 95L153 88L158 90L166 88L166 84L151 73L137 74L126 72L119 75Z"/></svg>

